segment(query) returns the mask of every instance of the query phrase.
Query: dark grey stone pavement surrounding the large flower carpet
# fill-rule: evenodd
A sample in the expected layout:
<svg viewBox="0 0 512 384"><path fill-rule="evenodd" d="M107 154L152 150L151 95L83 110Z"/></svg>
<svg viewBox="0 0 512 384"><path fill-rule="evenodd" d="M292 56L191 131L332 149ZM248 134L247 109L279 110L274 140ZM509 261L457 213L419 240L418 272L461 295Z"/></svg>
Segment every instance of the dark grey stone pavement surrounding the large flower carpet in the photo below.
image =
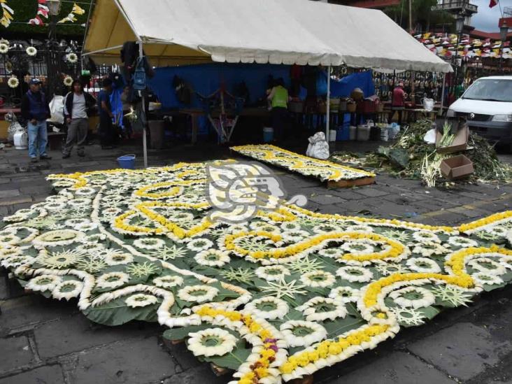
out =
<svg viewBox="0 0 512 384"><path fill-rule="evenodd" d="M27 163L24 151L0 151L0 216L43 201L48 173L117 167L115 158L139 148L87 157L58 152L49 162ZM354 148L350 148L354 150ZM150 152L150 166L229 157L216 145L188 145ZM505 157L509 161L509 157ZM138 159L138 166L141 161ZM379 175L376 185L327 190L318 180L277 171L292 194L306 194L307 208L322 213L371 214L430 225L457 225L509 209L512 186L462 185L427 190L418 181ZM404 329L378 348L315 374L315 383L497 384L512 383L512 287L482 294L467 308L446 311L422 327ZM66 304L20 286L0 271L0 384L226 383L183 344L166 346L158 325L94 325L76 303Z"/></svg>

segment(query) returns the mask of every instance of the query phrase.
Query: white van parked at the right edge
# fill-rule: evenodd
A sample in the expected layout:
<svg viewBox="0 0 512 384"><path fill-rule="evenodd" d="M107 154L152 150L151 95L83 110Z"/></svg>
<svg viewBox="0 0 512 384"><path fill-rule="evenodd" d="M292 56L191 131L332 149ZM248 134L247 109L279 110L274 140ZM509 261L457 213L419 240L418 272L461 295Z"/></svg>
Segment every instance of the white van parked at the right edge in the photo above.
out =
<svg viewBox="0 0 512 384"><path fill-rule="evenodd" d="M512 149L512 76L479 78L448 108L447 116L467 118L471 131Z"/></svg>

